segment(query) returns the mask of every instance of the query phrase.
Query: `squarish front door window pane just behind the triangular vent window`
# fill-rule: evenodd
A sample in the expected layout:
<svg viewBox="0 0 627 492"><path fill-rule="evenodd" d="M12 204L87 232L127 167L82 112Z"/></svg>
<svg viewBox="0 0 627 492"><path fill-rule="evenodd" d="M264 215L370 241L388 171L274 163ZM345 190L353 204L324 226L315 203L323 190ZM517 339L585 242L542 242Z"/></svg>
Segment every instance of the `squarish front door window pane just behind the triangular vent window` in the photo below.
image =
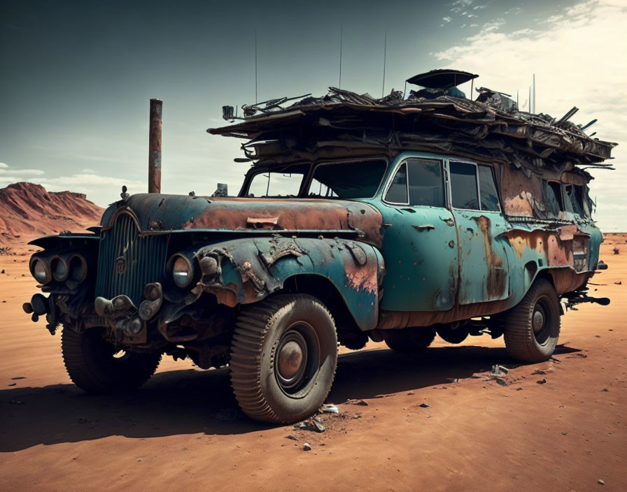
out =
<svg viewBox="0 0 627 492"><path fill-rule="evenodd" d="M444 207L442 162L409 159L409 205Z"/></svg>

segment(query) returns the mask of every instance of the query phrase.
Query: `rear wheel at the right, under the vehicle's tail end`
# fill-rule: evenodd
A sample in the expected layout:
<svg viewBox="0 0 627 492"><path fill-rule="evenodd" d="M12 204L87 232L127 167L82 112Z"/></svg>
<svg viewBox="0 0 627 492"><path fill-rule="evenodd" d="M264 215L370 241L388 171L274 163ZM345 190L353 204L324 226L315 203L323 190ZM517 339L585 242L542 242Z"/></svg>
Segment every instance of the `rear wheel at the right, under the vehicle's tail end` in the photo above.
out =
<svg viewBox="0 0 627 492"><path fill-rule="evenodd" d="M502 321L509 356L524 362L547 361L560 335L560 304L553 285L537 280Z"/></svg>

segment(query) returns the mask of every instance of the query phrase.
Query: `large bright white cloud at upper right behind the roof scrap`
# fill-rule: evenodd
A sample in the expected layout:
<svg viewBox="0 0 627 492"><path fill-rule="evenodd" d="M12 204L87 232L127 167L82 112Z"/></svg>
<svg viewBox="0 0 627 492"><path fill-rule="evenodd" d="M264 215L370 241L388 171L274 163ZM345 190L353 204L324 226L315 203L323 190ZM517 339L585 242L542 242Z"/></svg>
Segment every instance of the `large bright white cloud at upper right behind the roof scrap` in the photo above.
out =
<svg viewBox="0 0 627 492"><path fill-rule="evenodd" d="M508 94L519 89L521 102L535 73L538 113L561 117L577 106L571 121L598 118L589 132L620 145L612 152L617 171L592 171L596 218L602 229L627 231L627 167L621 166L627 158L627 8L616 0L584 1L548 14L514 32L507 32L502 19L486 22L477 34L435 57L445 66L479 73L481 85Z"/></svg>

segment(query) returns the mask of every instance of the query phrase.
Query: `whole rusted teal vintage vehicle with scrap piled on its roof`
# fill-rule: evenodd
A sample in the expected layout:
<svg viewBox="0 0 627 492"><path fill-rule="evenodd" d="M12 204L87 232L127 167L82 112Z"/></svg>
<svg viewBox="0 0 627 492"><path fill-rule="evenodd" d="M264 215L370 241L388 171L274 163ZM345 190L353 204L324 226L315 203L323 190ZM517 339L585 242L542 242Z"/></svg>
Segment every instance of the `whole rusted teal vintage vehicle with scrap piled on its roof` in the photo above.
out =
<svg viewBox="0 0 627 492"><path fill-rule="evenodd" d="M236 197L123 190L101 226L31 243L48 296L24 310L63 326L86 391L190 357L228 366L241 409L268 422L316 412L338 344L418 354L436 335L489 334L514 359L549 359L564 307L609 302L586 287L605 266L585 168L607 167L614 144L569 122L575 109L555 120L490 89L467 99L456 85L474 77L243 106L208 130L245 139Z"/></svg>

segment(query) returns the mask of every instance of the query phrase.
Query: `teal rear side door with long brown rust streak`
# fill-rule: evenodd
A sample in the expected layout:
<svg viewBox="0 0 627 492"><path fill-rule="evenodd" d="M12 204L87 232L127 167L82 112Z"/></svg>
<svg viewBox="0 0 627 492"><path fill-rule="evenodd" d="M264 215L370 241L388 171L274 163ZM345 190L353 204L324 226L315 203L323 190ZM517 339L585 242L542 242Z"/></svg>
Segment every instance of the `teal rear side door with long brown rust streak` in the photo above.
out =
<svg viewBox="0 0 627 492"><path fill-rule="evenodd" d="M506 230L491 166L449 160L449 192L459 249L461 305L509 297Z"/></svg>

